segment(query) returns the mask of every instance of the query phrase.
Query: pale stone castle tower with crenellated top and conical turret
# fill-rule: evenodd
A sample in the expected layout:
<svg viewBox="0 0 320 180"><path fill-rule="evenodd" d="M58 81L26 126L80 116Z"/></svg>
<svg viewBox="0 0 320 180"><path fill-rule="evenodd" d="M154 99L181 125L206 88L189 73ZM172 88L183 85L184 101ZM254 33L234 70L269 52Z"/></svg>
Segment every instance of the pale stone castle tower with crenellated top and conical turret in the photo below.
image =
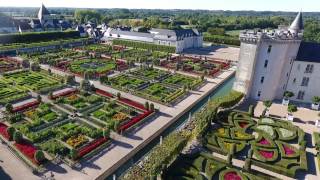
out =
<svg viewBox="0 0 320 180"><path fill-rule="evenodd" d="M240 33L233 89L255 100L281 99L303 36L302 13L290 27Z"/></svg>

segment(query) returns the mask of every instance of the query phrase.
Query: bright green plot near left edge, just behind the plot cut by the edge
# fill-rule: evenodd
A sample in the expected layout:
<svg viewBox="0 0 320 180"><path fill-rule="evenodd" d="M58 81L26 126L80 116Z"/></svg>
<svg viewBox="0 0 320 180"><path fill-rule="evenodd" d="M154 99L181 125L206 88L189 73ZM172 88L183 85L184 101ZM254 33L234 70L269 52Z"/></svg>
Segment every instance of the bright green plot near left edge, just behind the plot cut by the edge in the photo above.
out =
<svg viewBox="0 0 320 180"><path fill-rule="evenodd" d="M48 91L60 87L61 77L49 75L45 71L16 71L3 75L4 80L16 84L24 90Z"/></svg>

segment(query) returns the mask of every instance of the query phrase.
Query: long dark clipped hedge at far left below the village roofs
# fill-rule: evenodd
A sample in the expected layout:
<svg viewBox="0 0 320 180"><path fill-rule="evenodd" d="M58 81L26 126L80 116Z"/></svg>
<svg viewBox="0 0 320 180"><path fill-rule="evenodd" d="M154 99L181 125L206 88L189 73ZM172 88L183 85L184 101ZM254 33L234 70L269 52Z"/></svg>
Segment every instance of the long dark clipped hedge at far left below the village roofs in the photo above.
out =
<svg viewBox="0 0 320 180"><path fill-rule="evenodd" d="M30 32L23 34L0 35L0 44L10 43L32 43L52 41L55 39L79 38L79 31L53 31L53 32Z"/></svg>

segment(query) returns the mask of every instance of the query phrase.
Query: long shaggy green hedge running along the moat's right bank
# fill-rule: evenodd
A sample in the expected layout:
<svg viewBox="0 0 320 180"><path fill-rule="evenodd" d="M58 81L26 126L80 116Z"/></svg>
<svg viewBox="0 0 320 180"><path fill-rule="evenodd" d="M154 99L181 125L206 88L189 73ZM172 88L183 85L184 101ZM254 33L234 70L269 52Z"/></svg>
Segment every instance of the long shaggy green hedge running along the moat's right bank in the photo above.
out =
<svg viewBox="0 0 320 180"><path fill-rule="evenodd" d="M146 179L157 176L160 172L174 161L188 141L202 136L203 132L210 125L211 120L216 117L220 106L223 108L232 107L243 97L242 93L231 91L229 94L211 100L204 110L195 114L191 122L195 126L191 131L185 129L170 134L163 140L162 145L153 149L144 161L142 168L138 165L133 166L123 179ZM191 125L191 126L192 126ZM241 145L238 147L241 149Z"/></svg>

